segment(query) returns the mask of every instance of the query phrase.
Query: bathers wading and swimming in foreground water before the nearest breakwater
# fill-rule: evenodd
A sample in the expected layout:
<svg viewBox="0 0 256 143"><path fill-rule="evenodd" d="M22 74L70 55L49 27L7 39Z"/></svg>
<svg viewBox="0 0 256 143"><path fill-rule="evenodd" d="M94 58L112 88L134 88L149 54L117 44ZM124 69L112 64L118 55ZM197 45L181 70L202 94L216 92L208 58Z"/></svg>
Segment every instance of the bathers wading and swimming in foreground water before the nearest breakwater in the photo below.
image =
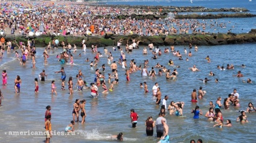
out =
<svg viewBox="0 0 256 143"><path fill-rule="evenodd" d="M135 40L133 41L135 42ZM4 43L2 43L4 44ZM23 45L23 43L22 43ZM85 43L83 43L83 45L85 45ZM33 48L30 49L30 46L32 46ZM71 56L72 54L71 52L67 52L69 51L69 48L71 48L70 46L65 46L65 43L62 42L62 47L63 47L63 53L67 55L67 57ZM36 48L34 45L31 45L31 42L28 41L27 46L18 46L18 48L21 49L22 51L22 55L25 55L24 59L27 59L28 57L31 57L33 59L33 61L35 61L36 59L34 59L34 54L36 54ZM189 47L190 45L189 45ZM103 92L102 94L108 94L108 91L113 91L115 84L118 84L119 80L118 80L118 65L122 65L122 68L126 69L126 80L130 81L130 74L136 74L138 73L137 71L141 71L139 73L141 73L141 76L144 77L150 77L150 78L156 78L156 76L161 76L162 74L165 73L165 77L167 80L177 80L177 76L178 71L177 69L174 69L173 72L170 71L170 69L167 69L165 66L160 65L159 63L156 63L156 66L152 67L150 71L147 71L147 68L149 66L149 60L145 60L144 61L144 68L142 68L141 65L137 66L135 59L130 60L129 65L126 63L127 59L125 56L125 51L123 51L123 49L121 48L120 45L117 46L118 51L120 51L120 59L118 62L115 62L114 58L112 57L112 52L107 51L106 48L104 48L104 54L108 56L107 58L107 63L106 65L110 66L110 69L112 71L112 74L109 73L109 77L108 80L105 81L105 76L104 76L104 71L105 71L105 65L103 64L101 66L101 68L99 69L95 69L95 77L94 77L94 82L91 84L86 83L85 81L85 76L83 75L82 71L79 70L77 75L75 75L75 77L77 78L77 84L75 84L75 86L77 86L78 91L83 91L84 88L89 88L91 89L91 96L93 98L97 98L99 93L98 93L98 86L102 86L103 87ZM113 49L113 51L117 51L117 49ZM168 48L165 48L164 52L168 54L167 50ZM174 50L174 46L171 46L171 52L173 54L174 57L181 57L181 52L180 51L175 51ZM52 46L50 48L45 48L45 51L42 53L43 56L45 57L44 59L47 59L47 52L50 50L56 50L56 46ZM152 52L153 55L159 56L159 54L161 55L161 49L159 49L159 47L157 46L156 48L154 48L153 43L150 43L149 45L149 50L150 52ZM153 50L153 51L152 51ZM198 48L195 49L195 51L197 51ZM14 51L14 50L13 50ZM27 52L26 52L27 51ZM86 49L85 49L86 51ZM102 58L102 56L100 56L101 52L98 52L97 50L95 50L95 47L92 47L91 49L92 53L95 54L94 57L94 62L92 62L90 64L90 69L97 67L97 63L99 62L99 60ZM132 52L129 51L129 48L126 48L126 52ZM184 49L184 53L186 53L187 50ZM17 51L16 51L17 53ZM147 48L143 48L142 49L142 54L149 54L147 52ZM18 58L18 57L17 57ZM209 61L210 57L207 56L205 58L207 61ZM22 60L22 57L21 57ZM67 58L66 62L71 62L71 58ZM88 59L87 59L88 60ZM153 60L153 58L152 58ZM180 59L179 59L180 60ZM89 60L88 60L89 62ZM61 58L60 58L60 63L61 62ZM33 68L36 68L33 64ZM173 60L169 60L168 62L169 66L174 66L174 62ZM129 68L128 68L129 67ZM158 73L156 72L156 69L158 70ZM178 68L178 67L177 67ZM245 65L242 65L242 68L245 68ZM102 72L100 71L100 69L102 70ZM190 69L192 72L198 72L200 71L199 69L196 68L196 65L194 65L192 68L188 68ZM217 66L217 69L219 70L233 70L234 66L231 64L231 66L228 64L226 69L225 68L220 68L220 66ZM93 69L92 69L93 70ZM61 78L60 80L62 81L62 90L65 90L65 79L66 79L66 72L64 70L64 68L62 67L60 69L60 71L56 71L54 73L61 73ZM40 74L40 81L45 81L45 77L47 77L47 74L45 72L45 70L43 70ZM210 72L209 74L210 76L214 76L213 72ZM243 77L243 74L241 73L241 71L238 71L237 75L233 75L235 77ZM2 84L3 85L7 85L7 71L2 71ZM113 81L111 81L111 79L114 78ZM203 83L206 83L208 80L208 78L205 79L199 79L202 80ZM35 81L35 93L37 94L39 92L39 83L37 78L34 79ZM218 82L218 79L215 80L215 82ZM252 83L251 79L248 78L248 81L244 81L246 83ZM14 89L16 93L21 92L21 77L19 75L17 75L15 81L14 81ZM106 83L109 83L109 87L106 86ZM144 88L144 92L147 93L149 92L149 89L147 87L147 83L140 83L140 87ZM54 80L51 82L51 94L56 94L56 85L54 83ZM72 77L69 77L68 80L68 89L69 89L69 94L72 95L73 94L73 82L72 82ZM197 98L202 99L206 94L206 91L203 91L202 86L199 87L199 91L197 93L196 89L193 89L193 92L191 93L191 102L192 103L196 103L198 102ZM169 112L169 115L176 115L176 116L183 116L183 109L184 109L184 102L174 102L171 101L170 104L167 104L167 100L168 100L168 95L164 96L164 99L162 99L162 93L161 93L161 88L158 86L158 83L155 83L155 86L152 87L152 97L153 99L156 100L156 105L161 105L161 110L159 112L159 118L156 119L156 121L153 121L152 116L149 116L149 118L146 119L145 122L145 126L146 126L146 134L147 136L153 136L153 128L156 126L156 133L157 133L157 137L160 140L159 142L168 142L170 137L168 136L168 125L167 125L167 119L165 119L165 114L168 114L167 111ZM1 94L1 98L0 98L0 103L1 103L1 99L3 98L2 94ZM228 97L225 98L223 104L221 102L222 97L218 97L216 100L216 103L213 104L213 101L210 101L210 108L208 110L208 112L206 112L205 117L208 118L208 120L210 121L215 121L216 124L213 127L219 127L222 128L223 126L227 126L227 127L231 127L231 119L226 119L226 124L223 123L223 115L220 109L229 109L229 106L235 106L235 107L239 107L240 104L240 100L239 100L239 94L237 93L237 89L234 89L234 91L228 95ZM75 100L74 103L74 109L72 111L72 116L73 116L73 120L71 121L71 124L69 124L66 128L65 128L65 132L74 132L74 124L75 122L79 122L79 116L82 116L82 124L85 123L85 117L86 117L86 110L85 110L85 104L86 104L86 100ZM46 107L46 112L45 112L45 129L47 132L46 135L46 142L50 142L50 138L51 138L51 107L47 106ZM252 103L248 104L248 108L243 111L241 110L241 115L238 116L237 118L237 122L248 122L246 113L249 112L255 112L256 109L253 106ZM80 115L79 115L80 113ZM191 110L191 113L194 113L194 119L199 119L200 115L203 115L202 110L199 109L199 106L196 106L194 109ZM130 118L131 118L131 122L132 122L132 127L136 127L136 124L138 122L138 117L139 115L135 112L134 109L130 110ZM121 136L121 137L120 137ZM123 133L116 136L115 138L117 138L119 141L123 141ZM194 140L191 140L191 142L193 142ZM201 140L199 139L200 142ZM202 142L202 141L201 141Z"/></svg>

